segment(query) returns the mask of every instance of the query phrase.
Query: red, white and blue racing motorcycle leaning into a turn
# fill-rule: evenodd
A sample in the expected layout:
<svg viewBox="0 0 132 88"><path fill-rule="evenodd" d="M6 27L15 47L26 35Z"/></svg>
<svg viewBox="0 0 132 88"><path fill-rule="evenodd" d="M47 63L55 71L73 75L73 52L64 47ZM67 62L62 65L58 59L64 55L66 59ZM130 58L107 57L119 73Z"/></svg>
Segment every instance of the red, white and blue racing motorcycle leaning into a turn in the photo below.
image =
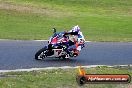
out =
<svg viewBox="0 0 132 88"><path fill-rule="evenodd" d="M64 37L64 32L56 32L56 29L53 28L53 35L48 41L48 45L37 51L35 54L36 60L42 60L46 57L62 58L69 59L69 57L76 57L76 54L69 55L67 52L68 44L74 45L69 42L68 36ZM75 48L70 49L70 53L74 53Z"/></svg>

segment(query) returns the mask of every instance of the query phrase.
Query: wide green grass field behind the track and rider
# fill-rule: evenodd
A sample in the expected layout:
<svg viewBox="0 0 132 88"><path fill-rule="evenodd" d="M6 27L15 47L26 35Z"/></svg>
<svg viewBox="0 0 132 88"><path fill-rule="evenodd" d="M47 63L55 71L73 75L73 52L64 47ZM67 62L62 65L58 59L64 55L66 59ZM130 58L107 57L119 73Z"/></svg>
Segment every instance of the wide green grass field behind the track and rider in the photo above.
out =
<svg viewBox="0 0 132 88"><path fill-rule="evenodd" d="M1 39L48 39L52 27L64 31L78 24L86 40L132 41L131 0L0 0L3 3Z"/></svg>

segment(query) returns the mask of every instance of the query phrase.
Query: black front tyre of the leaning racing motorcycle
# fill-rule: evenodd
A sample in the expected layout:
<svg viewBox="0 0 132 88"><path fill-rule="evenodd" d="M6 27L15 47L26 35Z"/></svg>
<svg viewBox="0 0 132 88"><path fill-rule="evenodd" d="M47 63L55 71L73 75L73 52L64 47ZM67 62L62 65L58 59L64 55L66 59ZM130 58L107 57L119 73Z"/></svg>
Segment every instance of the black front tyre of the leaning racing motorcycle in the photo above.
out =
<svg viewBox="0 0 132 88"><path fill-rule="evenodd" d="M35 54L35 59L36 60L42 60L46 57L46 52L47 52L47 48L44 47L42 49L40 49L36 54Z"/></svg>

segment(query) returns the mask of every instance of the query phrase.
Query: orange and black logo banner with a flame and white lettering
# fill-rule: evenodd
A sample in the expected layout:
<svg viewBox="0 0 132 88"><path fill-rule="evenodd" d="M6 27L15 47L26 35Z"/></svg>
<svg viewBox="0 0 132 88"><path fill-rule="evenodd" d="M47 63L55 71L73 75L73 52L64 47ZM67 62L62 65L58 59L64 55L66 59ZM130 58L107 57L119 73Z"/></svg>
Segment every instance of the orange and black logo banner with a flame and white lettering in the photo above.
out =
<svg viewBox="0 0 132 88"><path fill-rule="evenodd" d="M86 83L130 83L131 77L129 74L86 74L85 69L80 66L76 80L79 85Z"/></svg>

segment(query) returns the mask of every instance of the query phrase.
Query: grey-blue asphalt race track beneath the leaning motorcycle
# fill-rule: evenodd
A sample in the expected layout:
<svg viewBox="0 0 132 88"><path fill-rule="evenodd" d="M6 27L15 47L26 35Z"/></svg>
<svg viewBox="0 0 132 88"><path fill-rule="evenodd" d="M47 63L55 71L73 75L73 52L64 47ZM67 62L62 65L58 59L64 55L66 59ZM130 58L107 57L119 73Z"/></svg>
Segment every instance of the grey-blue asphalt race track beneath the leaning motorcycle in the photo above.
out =
<svg viewBox="0 0 132 88"><path fill-rule="evenodd" d="M78 64L132 64L131 42L87 42L80 56L76 58L35 60L34 54L46 44L46 41L0 40L0 70L77 66Z"/></svg>

